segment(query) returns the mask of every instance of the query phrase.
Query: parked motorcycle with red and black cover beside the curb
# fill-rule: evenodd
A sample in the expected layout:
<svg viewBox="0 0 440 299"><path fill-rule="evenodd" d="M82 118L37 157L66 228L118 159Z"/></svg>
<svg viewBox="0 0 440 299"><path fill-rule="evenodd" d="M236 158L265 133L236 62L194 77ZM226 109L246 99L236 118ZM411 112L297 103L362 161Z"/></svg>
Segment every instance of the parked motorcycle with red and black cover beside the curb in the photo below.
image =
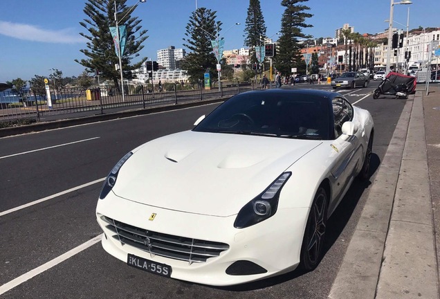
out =
<svg viewBox="0 0 440 299"><path fill-rule="evenodd" d="M373 91L373 98L379 96L396 96L396 98L408 98L408 94L414 91L416 86L414 78L398 73L389 73L387 77Z"/></svg>

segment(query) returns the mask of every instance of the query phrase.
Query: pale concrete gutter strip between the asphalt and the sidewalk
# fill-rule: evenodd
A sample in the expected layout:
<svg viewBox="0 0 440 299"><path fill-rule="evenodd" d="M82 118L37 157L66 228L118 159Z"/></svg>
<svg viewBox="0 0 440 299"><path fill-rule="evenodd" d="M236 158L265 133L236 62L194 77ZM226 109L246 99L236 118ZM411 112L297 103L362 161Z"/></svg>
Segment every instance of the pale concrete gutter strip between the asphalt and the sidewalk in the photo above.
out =
<svg viewBox="0 0 440 299"><path fill-rule="evenodd" d="M412 107L407 100L328 298L376 296Z"/></svg>

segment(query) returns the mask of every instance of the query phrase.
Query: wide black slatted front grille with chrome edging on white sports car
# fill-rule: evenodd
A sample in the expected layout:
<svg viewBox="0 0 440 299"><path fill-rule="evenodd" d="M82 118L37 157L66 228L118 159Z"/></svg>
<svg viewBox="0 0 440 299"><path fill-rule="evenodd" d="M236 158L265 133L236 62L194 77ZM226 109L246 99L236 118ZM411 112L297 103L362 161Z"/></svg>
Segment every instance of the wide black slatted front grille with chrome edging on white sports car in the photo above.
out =
<svg viewBox="0 0 440 299"><path fill-rule="evenodd" d="M107 223L106 228L116 234L111 237L121 242L122 246L134 246L152 256L160 255L192 264L206 262L229 249L229 245L224 243L156 233L105 216L101 216L101 219Z"/></svg>

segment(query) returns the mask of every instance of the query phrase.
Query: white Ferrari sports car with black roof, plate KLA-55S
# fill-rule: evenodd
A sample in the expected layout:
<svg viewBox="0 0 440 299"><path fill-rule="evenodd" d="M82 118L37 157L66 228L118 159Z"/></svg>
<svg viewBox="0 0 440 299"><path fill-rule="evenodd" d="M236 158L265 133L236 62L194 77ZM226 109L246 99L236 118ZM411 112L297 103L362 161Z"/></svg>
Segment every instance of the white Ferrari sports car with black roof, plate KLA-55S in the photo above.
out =
<svg viewBox="0 0 440 299"><path fill-rule="evenodd" d="M241 284L318 266L327 218L369 177L368 111L339 93L250 91L125 155L96 216L105 251L179 280Z"/></svg>

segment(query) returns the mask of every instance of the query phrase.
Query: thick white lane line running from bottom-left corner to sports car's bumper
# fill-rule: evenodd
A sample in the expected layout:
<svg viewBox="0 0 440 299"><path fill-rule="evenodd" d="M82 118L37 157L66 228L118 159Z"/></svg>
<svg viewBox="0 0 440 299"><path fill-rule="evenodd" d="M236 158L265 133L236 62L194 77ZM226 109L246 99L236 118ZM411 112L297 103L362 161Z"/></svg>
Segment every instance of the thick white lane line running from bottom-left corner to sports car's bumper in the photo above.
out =
<svg viewBox="0 0 440 299"><path fill-rule="evenodd" d="M27 273L24 273L23 275L20 275L19 277L11 280L10 282L6 282L6 284L0 286L0 295L6 293L7 291L10 291L11 289L19 286L20 284L26 282L27 280L34 278L35 276L43 273L44 271L51 269L53 266L56 266L57 264L64 262L68 258L73 257L73 255L76 255L77 253L80 253L81 251L84 251L90 246L93 246L94 244L100 242L100 240L102 239L102 235L104 234L97 235L93 239L90 239L89 241L81 244L80 246L77 246L71 249L70 251L67 251L64 254L59 255L59 257L55 257L53 260L46 262L46 264L42 264L41 266L38 266L37 268L30 270Z"/></svg>

